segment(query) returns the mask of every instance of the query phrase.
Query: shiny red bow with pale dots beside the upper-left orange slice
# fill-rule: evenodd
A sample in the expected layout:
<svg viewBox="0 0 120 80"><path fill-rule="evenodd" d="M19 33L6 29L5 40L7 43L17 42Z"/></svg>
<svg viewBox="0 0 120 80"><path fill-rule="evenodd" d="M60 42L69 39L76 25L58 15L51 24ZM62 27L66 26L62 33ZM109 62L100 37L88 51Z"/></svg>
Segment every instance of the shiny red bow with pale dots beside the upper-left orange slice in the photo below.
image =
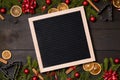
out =
<svg viewBox="0 0 120 80"><path fill-rule="evenodd" d="M22 12L23 13L35 13L35 8L37 6L36 0L23 0Z"/></svg>

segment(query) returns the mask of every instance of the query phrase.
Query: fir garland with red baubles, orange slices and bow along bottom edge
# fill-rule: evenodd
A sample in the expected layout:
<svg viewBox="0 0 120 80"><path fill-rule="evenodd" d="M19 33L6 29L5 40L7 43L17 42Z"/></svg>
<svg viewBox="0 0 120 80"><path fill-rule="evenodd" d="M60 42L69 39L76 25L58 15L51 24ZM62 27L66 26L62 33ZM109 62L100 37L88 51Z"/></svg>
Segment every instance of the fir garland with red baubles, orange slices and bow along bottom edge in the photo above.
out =
<svg viewBox="0 0 120 80"><path fill-rule="evenodd" d="M72 71L69 74L66 74L66 69L61 69L57 71L52 71L44 74L39 73L37 60L32 60L30 56L27 57L27 63L23 65L20 69L20 64L13 63L18 67L18 71L16 74L16 80L39 80L39 76L42 78L40 80L119 80L120 79L120 64L114 63L112 58L105 58L103 63L99 64L98 62L91 62L83 65L91 65L94 63L94 68L90 71L84 71L83 66L73 66L70 68L74 68L75 71ZM15 79L6 73L6 69L11 69L10 67L14 65L7 66L6 68L0 68L0 79L8 80ZM29 74L24 74L24 70L29 69ZM68 68L69 69L69 68ZM5 71L4 71L5 70ZM14 69L16 70L16 69ZM8 71L7 71L8 72ZM16 72L16 71L15 71ZM92 75L90 75L92 73ZM99 75L98 75L99 74ZM7 76L7 77L4 77Z"/></svg>

